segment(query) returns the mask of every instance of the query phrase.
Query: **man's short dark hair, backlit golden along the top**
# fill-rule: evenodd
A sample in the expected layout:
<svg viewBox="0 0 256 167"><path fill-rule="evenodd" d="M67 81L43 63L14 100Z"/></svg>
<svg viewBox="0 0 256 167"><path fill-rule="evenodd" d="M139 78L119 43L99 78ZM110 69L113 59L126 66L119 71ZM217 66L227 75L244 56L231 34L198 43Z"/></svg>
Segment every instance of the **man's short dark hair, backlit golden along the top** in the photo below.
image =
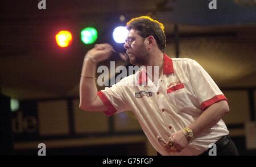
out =
<svg viewBox="0 0 256 167"><path fill-rule="evenodd" d="M133 18L127 22L126 28L138 30L138 34L142 37L154 36L158 48L164 52L166 48L166 35L164 34L164 26L162 23L150 18L150 16L140 16Z"/></svg>

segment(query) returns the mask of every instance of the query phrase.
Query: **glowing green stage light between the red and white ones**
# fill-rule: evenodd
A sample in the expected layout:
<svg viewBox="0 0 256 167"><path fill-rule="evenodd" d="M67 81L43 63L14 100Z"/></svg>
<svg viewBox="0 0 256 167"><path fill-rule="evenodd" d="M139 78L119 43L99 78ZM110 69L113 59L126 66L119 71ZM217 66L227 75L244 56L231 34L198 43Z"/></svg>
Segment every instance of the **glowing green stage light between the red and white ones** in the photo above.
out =
<svg viewBox="0 0 256 167"><path fill-rule="evenodd" d="M98 38L98 32L93 27L84 28L81 31L81 40L85 44L93 44Z"/></svg>

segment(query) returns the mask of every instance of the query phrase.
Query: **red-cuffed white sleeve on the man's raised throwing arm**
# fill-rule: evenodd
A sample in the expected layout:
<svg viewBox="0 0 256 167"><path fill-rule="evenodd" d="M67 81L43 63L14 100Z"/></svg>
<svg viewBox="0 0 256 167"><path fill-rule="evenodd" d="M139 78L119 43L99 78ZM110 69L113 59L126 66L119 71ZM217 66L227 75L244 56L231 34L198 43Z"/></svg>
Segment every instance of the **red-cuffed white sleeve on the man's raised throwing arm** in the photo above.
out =
<svg viewBox="0 0 256 167"><path fill-rule="evenodd" d="M98 97L100 97L104 105L109 109L108 111L104 111L107 116L129 110L124 97L125 86L122 85L122 80L119 82L112 87L105 87L104 90L98 91Z"/></svg>

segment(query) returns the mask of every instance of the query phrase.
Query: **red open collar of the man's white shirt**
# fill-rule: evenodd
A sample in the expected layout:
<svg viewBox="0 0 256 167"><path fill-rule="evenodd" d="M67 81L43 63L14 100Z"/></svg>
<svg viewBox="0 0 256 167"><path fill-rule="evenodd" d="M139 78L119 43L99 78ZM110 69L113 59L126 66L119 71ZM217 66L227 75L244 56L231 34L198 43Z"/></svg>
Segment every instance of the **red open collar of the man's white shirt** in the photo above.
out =
<svg viewBox="0 0 256 167"><path fill-rule="evenodd" d="M164 63L163 63L163 74L171 74L174 73L174 65L172 64L172 59L164 54ZM138 85L144 85L147 83L147 73L145 69L142 69L139 73Z"/></svg>

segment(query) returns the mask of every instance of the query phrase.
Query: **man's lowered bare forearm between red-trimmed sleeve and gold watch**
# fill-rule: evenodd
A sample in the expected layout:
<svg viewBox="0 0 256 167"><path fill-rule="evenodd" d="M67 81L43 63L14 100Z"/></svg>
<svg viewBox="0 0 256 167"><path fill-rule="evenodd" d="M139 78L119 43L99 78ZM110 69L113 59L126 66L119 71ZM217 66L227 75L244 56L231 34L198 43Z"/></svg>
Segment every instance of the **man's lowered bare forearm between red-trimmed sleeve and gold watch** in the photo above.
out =
<svg viewBox="0 0 256 167"><path fill-rule="evenodd" d="M220 101L209 106L199 118L189 124L189 128L196 136L200 132L213 127L218 121L229 112L229 106L226 101Z"/></svg>

